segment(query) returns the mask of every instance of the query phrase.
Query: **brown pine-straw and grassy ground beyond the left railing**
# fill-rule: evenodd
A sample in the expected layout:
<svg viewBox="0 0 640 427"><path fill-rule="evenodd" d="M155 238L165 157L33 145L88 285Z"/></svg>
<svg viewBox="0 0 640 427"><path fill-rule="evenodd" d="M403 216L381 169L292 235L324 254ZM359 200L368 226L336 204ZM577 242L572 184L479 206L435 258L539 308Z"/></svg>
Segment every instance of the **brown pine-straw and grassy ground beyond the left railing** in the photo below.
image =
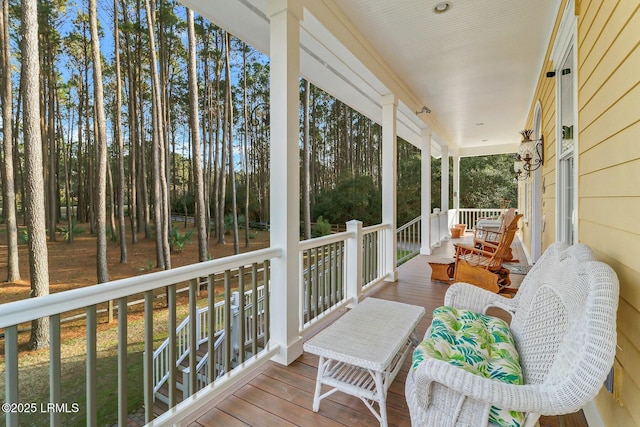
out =
<svg viewBox="0 0 640 427"><path fill-rule="evenodd" d="M180 232L189 230L191 225L184 228L180 224ZM80 224L86 231L74 237L73 243L63 241L61 235L57 242L48 242L49 250L49 282L50 292L62 292L79 287L92 286L97 282L96 271L96 237L88 232L87 224ZM21 229L23 227L20 227ZM7 276L7 247L6 231L0 228L0 280L6 280ZM156 251L155 239L144 238L144 233L138 235L138 243L131 244L131 234L129 233L127 242L128 262L120 263L120 246L115 241L108 243L107 257L109 277L111 280L126 277L138 276L141 274L159 271L155 267ZM247 252L269 246L269 233L266 231L251 230L250 247L244 247L244 230L241 230L240 251ZM233 236L226 236L227 243L217 244L211 242L209 254L211 258L222 258L233 255ZM20 274L22 279L15 283L0 283L0 309L1 304L29 298L29 259L27 245L19 245ZM184 246L182 252L171 253L171 265L173 268L193 264L198 261L198 249L195 233L191 236L191 242ZM156 292L159 296L162 290ZM129 299L139 299L141 295ZM206 292L200 298L206 298ZM178 295L178 320L187 315L186 293ZM206 300L202 300L200 305ZM164 297L157 298L154 303L154 348L157 347L167 336ZM98 324L98 420L99 425L113 424L114 414L117 410L117 321L108 323L104 307L99 307ZM100 310L103 309L103 310ZM144 320L142 318L143 305L132 306L128 310L128 371L131 384L141 384L142 381L142 336L144 331ZM62 318L76 315L78 312L62 314ZM38 351L28 350L29 325L19 327L19 387L21 402L46 402L48 401L49 384L49 351L47 349ZM4 332L0 330L0 333ZM84 375L78 375L85 370L85 320L65 322L61 329L62 340L62 389L63 400L68 403L78 403L80 411L77 414L65 414L63 416L64 425L84 425L85 420L85 395L84 395ZM0 372L4 371L4 339L0 339ZM0 375L0 401L4 401L4 375ZM135 387L129 394L129 411L139 412L142 406L141 389ZM47 414L31 414L28 420L21 417L24 425L46 424Z"/></svg>

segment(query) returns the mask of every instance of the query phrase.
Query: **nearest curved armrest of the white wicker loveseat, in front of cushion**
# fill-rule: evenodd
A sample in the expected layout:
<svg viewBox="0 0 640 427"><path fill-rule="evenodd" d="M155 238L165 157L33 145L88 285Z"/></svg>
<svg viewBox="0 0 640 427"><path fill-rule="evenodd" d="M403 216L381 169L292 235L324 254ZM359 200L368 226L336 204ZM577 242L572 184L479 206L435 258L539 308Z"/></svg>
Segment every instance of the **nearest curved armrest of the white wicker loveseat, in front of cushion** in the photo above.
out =
<svg viewBox="0 0 640 427"><path fill-rule="evenodd" d="M416 392L422 396L419 405L426 410L432 399L433 383L439 383L468 398L499 408L536 414L556 415L575 412L581 406L570 402L559 405L555 394L541 385L505 384L474 375L442 360L425 358L413 373ZM457 400L459 401L459 400ZM452 402L452 404L456 404ZM451 408L452 410L455 407Z"/></svg>

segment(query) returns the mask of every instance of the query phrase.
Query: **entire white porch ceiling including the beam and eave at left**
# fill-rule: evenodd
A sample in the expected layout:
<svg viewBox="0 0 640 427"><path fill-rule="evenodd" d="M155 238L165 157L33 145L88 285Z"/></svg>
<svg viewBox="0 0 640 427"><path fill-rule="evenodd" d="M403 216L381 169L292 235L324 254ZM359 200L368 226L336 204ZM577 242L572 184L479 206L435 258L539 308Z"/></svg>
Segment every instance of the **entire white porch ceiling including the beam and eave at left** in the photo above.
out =
<svg viewBox="0 0 640 427"><path fill-rule="evenodd" d="M268 54L266 0L182 2ZM429 127L451 154L517 150L561 0L450 0L444 14L440 0L300 2L303 77L378 122L393 92L416 145Z"/></svg>

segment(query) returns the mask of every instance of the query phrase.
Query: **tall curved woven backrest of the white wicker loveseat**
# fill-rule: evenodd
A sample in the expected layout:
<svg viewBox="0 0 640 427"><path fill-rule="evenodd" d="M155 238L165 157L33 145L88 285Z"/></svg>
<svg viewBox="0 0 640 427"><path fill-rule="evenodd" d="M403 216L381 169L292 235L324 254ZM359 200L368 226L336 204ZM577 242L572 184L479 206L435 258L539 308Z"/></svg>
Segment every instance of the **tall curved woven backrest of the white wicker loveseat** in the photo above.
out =
<svg viewBox="0 0 640 427"><path fill-rule="evenodd" d="M586 245L556 243L526 276L516 298L511 331L525 384L553 386L567 406L593 397L615 354L613 270L595 261ZM594 360L603 368L593 369Z"/></svg>

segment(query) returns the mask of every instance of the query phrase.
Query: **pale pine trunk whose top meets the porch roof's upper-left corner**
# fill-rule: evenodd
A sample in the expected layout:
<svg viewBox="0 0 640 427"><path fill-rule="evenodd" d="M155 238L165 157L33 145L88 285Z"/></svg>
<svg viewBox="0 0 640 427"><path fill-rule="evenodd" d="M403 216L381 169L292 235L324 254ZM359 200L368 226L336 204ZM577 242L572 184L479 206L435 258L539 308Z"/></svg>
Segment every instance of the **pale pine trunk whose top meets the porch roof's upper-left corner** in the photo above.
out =
<svg viewBox="0 0 640 427"><path fill-rule="evenodd" d="M193 177L195 183L196 212L195 225L198 230L199 260L206 261L209 255L209 242L206 229L206 206L204 204L204 180L200 158L200 123L198 112L198 76L196 74L196 36L193 24L193 11L187 8L187 32L189 37L189 126L191 127L191 150L193 159Z"/></svg>

